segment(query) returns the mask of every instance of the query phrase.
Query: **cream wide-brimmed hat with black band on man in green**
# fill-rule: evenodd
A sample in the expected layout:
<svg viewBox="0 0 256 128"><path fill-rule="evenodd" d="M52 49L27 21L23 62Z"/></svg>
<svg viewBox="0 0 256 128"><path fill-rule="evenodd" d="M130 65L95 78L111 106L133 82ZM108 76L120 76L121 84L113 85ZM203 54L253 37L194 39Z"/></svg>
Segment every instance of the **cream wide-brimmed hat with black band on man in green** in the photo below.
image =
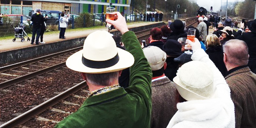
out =
<svg viewBox="0 0 256 128"><path fill-rule="evenodd" d="M66 61L68 68L91 74L116 72L132 66L133 63L133 55L117 48L112 35L107 31L89 34L84 48Z"/></svg>

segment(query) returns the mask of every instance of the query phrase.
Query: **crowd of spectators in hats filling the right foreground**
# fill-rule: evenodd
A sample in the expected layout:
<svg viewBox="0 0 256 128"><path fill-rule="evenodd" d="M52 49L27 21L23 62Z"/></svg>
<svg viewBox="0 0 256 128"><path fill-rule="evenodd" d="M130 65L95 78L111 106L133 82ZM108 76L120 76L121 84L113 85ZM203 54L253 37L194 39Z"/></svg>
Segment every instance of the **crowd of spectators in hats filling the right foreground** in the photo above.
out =
<svg viewBox="0 0 256 128"><path fill-rule="evenodd" d="M56 127L256 126L256 19L248 23L251 32L243 32L242 23L234 32L225 21L208 35L199 18L197 28L189 27L196 29L195 42L175 20L152 29L143 47L121 13L115 15L106 22L122 35L93 32L67 59L90 93ZM222 43L227 36L233 38ZM185 52L186 44L192 54Z"/></svg>

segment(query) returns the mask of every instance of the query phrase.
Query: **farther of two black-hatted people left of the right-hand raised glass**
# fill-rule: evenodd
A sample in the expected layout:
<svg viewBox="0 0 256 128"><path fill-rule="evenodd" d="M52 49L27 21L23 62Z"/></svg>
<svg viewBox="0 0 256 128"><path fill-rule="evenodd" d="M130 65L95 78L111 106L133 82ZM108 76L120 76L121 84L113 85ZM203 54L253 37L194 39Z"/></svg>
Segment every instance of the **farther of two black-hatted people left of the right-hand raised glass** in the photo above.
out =
<svg viewBox="0 0 256 128"><path fill-rule="evenodd" d="M184 28L185 28L185 26L181 20L179 20L179 19L175 20L170 25L170 29L172 32L171 32L170 36L167 38L167 40L169 40L169 39L178 40L178 38L187 37L187 34L184 31Z"/></svg>

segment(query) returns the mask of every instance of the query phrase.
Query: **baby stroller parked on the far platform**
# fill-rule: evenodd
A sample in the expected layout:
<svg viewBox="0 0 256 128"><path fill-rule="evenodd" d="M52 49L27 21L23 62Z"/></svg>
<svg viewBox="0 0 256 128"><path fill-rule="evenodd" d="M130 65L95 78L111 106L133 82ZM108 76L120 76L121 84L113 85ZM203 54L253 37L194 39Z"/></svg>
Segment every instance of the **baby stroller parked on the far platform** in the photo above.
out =
<svg viewBox="0 0 256 128"><path fill-rule="evenodd" d="M12 26L12 24L11 24L11 26ZM24 42L25 36L27 37L27 41L30 41L29 36L27 36L27 34L25 32L25 26L22 23L17 24L15 27L13 27L13 29L14 29L14 35L15 35L15 38L12 39L13 42L16 41L16 38L21 38L21 41Z"/></svg>

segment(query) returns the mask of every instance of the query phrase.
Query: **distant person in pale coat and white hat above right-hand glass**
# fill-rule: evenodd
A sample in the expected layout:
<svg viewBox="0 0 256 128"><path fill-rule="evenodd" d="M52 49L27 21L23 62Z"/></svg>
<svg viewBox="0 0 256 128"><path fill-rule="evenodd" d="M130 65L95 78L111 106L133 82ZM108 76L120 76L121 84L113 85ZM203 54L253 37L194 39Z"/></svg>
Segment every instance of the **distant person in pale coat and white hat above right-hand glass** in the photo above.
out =
<svg viewBox="0 0 256 128"><path fill-rule="evenodd" d="M200 38L202 39L202 42L205 44L206 36L207 36L207 25L204 23L203 17L198 18L199 24L197 26L197 29L199 30Z"/></svg>

